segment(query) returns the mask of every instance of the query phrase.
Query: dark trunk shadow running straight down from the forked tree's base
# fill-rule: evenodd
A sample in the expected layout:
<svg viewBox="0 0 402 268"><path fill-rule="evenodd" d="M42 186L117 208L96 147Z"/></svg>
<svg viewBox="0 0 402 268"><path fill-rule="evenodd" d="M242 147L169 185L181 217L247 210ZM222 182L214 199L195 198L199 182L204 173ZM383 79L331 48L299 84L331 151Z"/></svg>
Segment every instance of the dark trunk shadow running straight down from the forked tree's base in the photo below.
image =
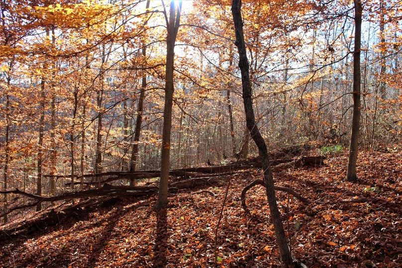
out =
<svg viewBox="0 0 402 268"><path fill-rule="evenodd" d="M154 246L153 267L165 267L168 250L168 217L167 208L156 210L156 237Z"/></svg>

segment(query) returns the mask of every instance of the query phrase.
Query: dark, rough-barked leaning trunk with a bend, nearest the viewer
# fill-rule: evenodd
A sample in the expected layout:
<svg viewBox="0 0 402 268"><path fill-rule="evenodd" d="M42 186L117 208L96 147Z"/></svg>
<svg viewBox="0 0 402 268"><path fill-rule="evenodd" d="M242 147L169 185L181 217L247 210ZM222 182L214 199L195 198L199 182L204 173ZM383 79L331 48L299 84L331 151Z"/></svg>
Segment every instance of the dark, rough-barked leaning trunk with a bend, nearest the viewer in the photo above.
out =
<svg viewBox="0 0 402 268"><path fill-rule="evenodd" d="M244 111L246 114L247 128L249 129L251 137L258 147L258 151L261 157L262 167L264 170L264 183L266 187L266 194L268 198L268 204L270 207L272 222L275 228L277 244L279 247L279 251L281 253L282 262L286 267L294 267L291 252L288 246L288 241L285 236L285 230L281 220L281 214L279 212L275 196L274 179L270 165L268 148L255 122L252 95L251 95L252 93L251 93L251 81L249 74L249 63L246 54L246 45L244 42L243 20L241 17L241 0L232 1L232 14L236 33L235 44L239 52L239 68L241 71L243 103L244 103Z"/></svg>

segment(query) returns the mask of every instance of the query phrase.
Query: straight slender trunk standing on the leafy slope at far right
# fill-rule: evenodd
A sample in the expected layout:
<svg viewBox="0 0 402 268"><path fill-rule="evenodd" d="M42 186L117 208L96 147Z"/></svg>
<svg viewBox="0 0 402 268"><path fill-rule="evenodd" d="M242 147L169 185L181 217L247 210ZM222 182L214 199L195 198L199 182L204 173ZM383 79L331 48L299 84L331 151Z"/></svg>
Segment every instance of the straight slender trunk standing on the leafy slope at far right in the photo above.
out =
<svg viewBox="0 0 402 268"><path fill-rule="evenodd" d="M350 137L349 163L346 172L346 180L356 181L357 147L360 130L360 46L362 30L363 6L360 0L354 0L355 4L355 48L353 52L353 115L352 134Z"/></svg>

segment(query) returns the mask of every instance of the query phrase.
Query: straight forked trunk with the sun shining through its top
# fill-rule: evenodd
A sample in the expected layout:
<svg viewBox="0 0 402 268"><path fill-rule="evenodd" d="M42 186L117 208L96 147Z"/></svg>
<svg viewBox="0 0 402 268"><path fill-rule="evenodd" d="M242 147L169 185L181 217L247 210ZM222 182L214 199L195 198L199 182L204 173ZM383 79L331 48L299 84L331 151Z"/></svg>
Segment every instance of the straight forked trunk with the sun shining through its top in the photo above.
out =
<svg viewBox="0 0 402 268"><path fill-rule="evenodd" d="M182 1L179 2L178 8L174 0L170 2L169 21L167 14L165 18L167 22L168 34L166 38L166 84L165 84L165 106L163 109L163 130L162 130L162 153L161 153L161 179L159 180L158 201L156 208L165 207L168 203L168 186L169 186L169 167L170 167L170 134L172 128L172 104L173 104L173 69L175 57L175 43L177 31L180 25L180 12ZM177 11L176 11L177 9Z"/></svg>

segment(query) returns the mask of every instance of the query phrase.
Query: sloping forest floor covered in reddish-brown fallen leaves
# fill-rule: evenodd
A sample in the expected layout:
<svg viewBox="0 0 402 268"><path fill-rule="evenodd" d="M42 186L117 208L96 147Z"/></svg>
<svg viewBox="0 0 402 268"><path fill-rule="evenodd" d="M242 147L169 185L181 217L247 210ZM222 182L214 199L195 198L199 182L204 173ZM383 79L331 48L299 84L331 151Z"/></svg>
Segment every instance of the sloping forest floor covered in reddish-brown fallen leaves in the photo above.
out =
<svg viewBox="0 0 402 268"><path fill-rule="evenodd" d="M401 267L402 152L360 153L357 183L343 181L346 163L340 153L324 166L275 174L277 185L311 201L277 192L292 252L307 267ZM241 207L241 190L254 179L260 170L231 176L216 243L227 182L171 195L158 214L155 195L124 197L1 242L0 267L276 267L265 189L248 191L249 215Z"/></svg>

